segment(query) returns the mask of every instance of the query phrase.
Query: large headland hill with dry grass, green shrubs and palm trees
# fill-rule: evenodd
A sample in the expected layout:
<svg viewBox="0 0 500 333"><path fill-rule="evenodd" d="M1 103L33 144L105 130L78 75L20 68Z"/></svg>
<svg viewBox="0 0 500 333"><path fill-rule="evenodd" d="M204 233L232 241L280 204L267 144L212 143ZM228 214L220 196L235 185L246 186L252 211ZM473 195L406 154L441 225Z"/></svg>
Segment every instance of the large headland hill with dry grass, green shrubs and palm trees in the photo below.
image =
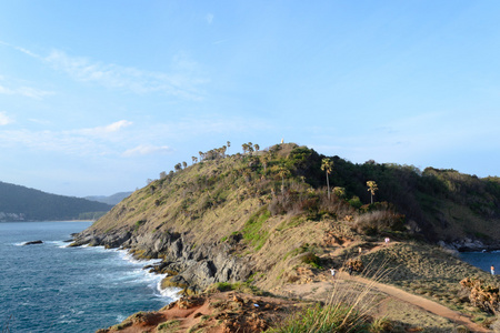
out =
<svg viewBox="0 0 500 333"><path fill-rule="evenodd" d="M393 263L389 266L398 268L388 283L417 290L421 285L407 283L408 276L437 281L439 265L428 258L440 253L442 263L462 266L442 278L444 289L454 292L451 285L466 278L457 272L480 272L432 246L500 249L497 178L374 161L354 164L293 143L263 151L249 147L234 155L223 148L200 152L200 162L161 173L80 233L73 245L122 246L137 258L161 258L152 270L169 274L162 285L187 294L212 283L279 290L309 283L330 266L361 271L374 259L384 260L368 253L358 258L358 250L371 251L384 238L410 244L416 265L434 270L424 275L412 260L401 260L403 252L382 251Z"/></svg>

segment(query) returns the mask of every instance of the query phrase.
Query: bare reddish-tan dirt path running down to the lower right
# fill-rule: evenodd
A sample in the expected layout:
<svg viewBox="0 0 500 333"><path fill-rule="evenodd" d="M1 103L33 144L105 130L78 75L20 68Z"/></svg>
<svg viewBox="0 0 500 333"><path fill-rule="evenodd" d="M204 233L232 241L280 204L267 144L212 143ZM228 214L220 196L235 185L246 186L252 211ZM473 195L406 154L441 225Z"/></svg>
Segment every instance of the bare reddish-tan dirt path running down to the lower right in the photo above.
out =
<svg viewBox="0 0 500 333"><path fill-rule="evenodd" d="M448 319L456 323L457 325L463 325L468 327L471 332L491 332L476 323L473 323L468 316L456 312L451 309L446 307L439 303L430 301L419 295L411 294L403 290L400 290L396 286L382 284L378 282L373 282L368 279L363 279L360 276L350 276L349 274L341 272L337 275L338 279L334 283L346 283L346 287L348 287L347 283L356 281L366 285L369 285L370 289L377 290L383 294L387 294L391 297L394 297L399 301L409 303L414 305L426 312L433 313L438 316ZM283 295L292 296L292 297L301 297L309 299L314 301L328 301L327 299L334 290L333 283L331 282L331 276L324 274L324 276L318 276L321 282L313 282L308 284L289 284L280 289L280 292ZM340 286L342 287L342 286Z"/></svg>

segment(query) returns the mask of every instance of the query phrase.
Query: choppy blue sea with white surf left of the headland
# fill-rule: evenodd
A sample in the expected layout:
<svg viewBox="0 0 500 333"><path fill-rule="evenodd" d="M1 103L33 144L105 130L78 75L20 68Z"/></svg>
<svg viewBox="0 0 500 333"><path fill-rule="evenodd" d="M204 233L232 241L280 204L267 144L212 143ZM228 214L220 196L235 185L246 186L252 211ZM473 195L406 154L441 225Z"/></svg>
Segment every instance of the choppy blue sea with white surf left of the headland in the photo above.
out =
<svg viewBox="0 0 500 333"><path fill-rule="evenodd" d="M176 299L124 251L67 248L90 222L0 223L0 332L96 332ZM41 240L43 244L22 245Z"/></svg>

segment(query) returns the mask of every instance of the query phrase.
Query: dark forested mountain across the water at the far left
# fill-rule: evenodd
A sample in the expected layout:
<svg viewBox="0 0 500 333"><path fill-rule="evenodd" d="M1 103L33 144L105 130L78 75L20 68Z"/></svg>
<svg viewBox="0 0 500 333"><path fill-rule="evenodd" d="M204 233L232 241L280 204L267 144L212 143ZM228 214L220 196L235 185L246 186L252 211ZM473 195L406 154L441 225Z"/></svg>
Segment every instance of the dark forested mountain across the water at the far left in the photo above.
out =
<svg viewBox="0 0 500 333"><path fill-rule="evenodd" d="M112 205L0 182L0 221L97 219Z"/></svg>

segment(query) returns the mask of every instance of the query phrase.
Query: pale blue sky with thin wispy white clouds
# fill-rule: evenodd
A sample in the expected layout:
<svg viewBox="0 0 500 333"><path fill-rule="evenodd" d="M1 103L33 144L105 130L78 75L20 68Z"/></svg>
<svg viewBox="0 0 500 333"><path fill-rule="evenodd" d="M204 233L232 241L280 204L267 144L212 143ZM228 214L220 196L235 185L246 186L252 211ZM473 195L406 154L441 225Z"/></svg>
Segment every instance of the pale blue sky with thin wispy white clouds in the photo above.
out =
<svg viewBox="0 0 500 333"><path fill-rule="evenodd" d="M0 0L0 181L133 191L231 142L500 175L499 1Z"/></svg>

